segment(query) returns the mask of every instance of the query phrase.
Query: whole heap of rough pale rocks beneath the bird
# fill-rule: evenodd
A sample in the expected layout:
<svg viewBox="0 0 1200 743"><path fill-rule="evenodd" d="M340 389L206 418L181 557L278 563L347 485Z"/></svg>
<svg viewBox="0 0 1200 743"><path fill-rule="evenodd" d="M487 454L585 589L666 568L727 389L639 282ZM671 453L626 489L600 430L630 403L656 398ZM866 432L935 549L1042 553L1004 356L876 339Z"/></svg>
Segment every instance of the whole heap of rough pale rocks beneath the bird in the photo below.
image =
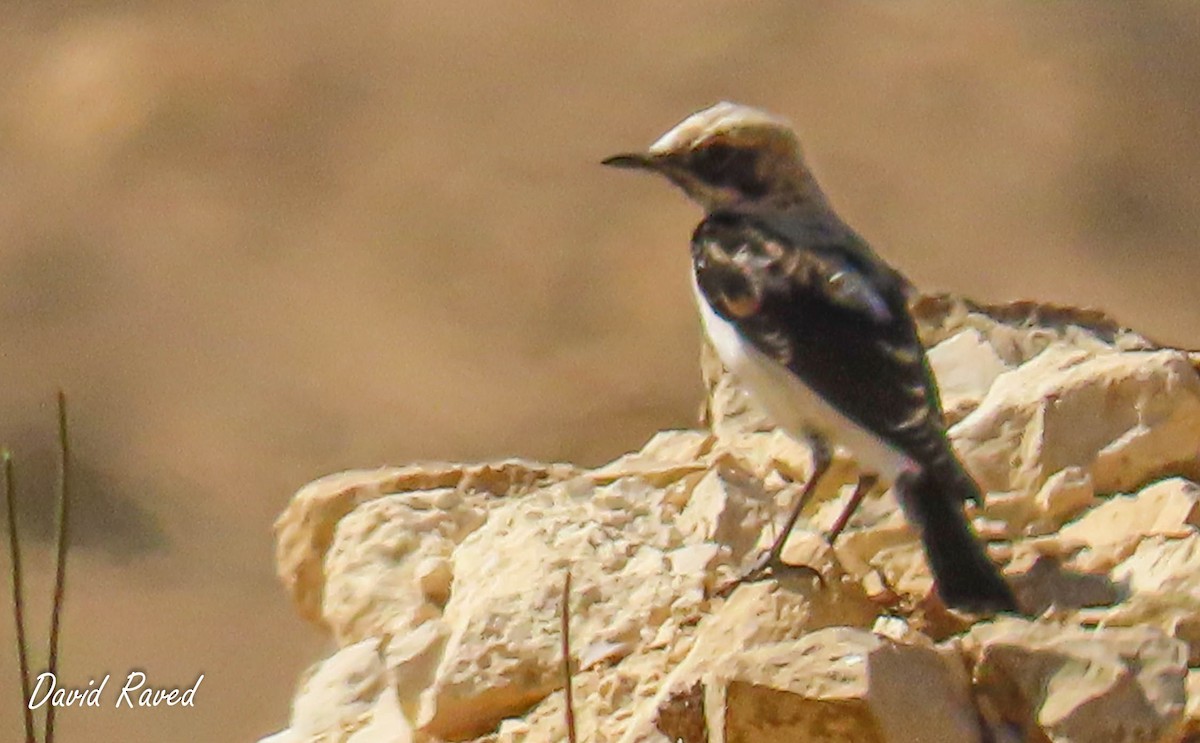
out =
<svg viewBox="0 0 1200 743"><path fill-rule="evenodd" d="M835 549L839 460L785 557L738 587L808 477L706 352L706 430L604 467L348 472L276 523L298 611L338 649L270 743L1200 741L1200 376L1105 317L916 305L974 514L1026 618L940 604L887 493ZM1189 737L1190 736L1190 737Z"/></svg>

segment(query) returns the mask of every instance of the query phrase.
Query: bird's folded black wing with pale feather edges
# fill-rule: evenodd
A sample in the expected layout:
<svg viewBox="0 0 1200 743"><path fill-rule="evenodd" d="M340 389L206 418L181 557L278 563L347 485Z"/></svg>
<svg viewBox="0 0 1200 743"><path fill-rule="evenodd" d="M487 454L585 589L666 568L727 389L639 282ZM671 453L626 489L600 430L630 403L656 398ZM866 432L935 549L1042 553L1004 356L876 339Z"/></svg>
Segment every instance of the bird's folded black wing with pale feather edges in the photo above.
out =
<svg viewBox="0 0 1200 743"><path fill-rule="evenodd" d="M692 236L704 298L846 418L923 466L956 468L905 278L853 233L781 233L748 215L704 220Z"/></svg>

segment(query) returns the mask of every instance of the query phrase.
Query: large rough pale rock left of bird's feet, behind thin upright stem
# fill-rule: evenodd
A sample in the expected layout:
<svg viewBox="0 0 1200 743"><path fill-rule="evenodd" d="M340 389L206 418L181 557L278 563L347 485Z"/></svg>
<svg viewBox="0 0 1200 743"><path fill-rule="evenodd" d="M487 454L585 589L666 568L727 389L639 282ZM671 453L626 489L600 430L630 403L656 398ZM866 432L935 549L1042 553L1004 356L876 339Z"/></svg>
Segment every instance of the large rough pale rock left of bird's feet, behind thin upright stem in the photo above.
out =
<svg viewBox="0 0 1200 743"><path fill-rule="evenodd" d="M696 616L708 576L671 570L667 553L684 543L661 521L660 492L634 477L492 508L455 551L455 582L469 579L472 591L454 591L445 605L449 637L421 691L418 729L482 735L559 688L559 648L546 640L559 631L566 569L572 645L613 648L610 663Z"/></svg>

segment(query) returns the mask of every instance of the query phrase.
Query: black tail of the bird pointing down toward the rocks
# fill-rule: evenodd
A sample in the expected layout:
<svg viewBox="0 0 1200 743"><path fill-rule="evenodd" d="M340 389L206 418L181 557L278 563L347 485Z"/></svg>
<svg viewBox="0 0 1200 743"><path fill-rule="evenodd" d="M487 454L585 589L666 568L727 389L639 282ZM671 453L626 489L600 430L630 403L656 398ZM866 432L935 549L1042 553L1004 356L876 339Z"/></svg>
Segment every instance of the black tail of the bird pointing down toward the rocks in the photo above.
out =
<svg viewBox="0 0 1200 743"><path fill-rule="evenodd" d="M972 613L1015 612L1013 591L962 513L964 502L979 499L979 489L954 465L959 472L948 473L952 477L901 475L895 486L900 507L920 532L937 593L947 606Z"/></svg>

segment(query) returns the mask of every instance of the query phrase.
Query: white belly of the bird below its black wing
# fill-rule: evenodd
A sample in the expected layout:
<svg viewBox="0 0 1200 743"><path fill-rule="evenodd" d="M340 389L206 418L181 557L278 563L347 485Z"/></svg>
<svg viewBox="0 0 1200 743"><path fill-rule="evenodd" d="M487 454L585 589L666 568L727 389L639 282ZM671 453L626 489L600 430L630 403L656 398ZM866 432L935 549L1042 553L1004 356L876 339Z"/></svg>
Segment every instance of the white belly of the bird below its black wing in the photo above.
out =
<svg viewBox="0 0 1200 743"><path fill-rule="evenodd" d="M908 457L851 421L785 366L755 348L737 328L716 314L695 278L692 289L704 331L725 368L733 372L773 421L797 438L817 433L830 445L844 449L866 472L878 474L886 484L895 480L908 465Z"/></svg>

